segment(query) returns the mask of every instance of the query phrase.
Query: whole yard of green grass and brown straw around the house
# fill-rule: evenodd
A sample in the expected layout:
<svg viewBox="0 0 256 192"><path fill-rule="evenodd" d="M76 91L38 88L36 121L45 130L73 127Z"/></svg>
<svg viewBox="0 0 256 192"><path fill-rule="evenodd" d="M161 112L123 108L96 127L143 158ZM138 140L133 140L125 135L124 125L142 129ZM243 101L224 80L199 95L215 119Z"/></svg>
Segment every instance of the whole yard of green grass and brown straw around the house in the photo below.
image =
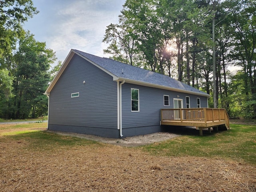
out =
<svg viewBox="0 0 256 192"><path fill-rule="evenodd" d="M0 125L0 189L13 191L256 190L256 126L129 148Z"/></svg>

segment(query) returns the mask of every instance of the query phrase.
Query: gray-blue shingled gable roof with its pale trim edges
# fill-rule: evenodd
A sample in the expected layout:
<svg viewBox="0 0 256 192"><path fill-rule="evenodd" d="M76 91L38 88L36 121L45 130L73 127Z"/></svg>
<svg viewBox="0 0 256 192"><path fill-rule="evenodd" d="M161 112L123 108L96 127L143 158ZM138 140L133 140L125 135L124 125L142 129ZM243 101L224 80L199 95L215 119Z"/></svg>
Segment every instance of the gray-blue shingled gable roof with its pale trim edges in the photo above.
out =
<svg viewBox="0 0 256 192"><path fill-rule="evenodd" d="M202 92L196 88L193 88L192 86L189 86L187 84L184 84L180 81L177 81L169 76L162 75L156 72L152 72L149 70L145 70L142 68L138 68L136 66L131 66L128 64L124 64L122 62L118 62L109 58L102 58L98 56L94 56L92 54L88 54L79 50L71 50L70 54L62 64L61 68L66 68L65 64L67 65L72 56L75 54L78 54L82 58L88 60L95 66L99 67L100 69L104 70L111 76L113 76L113 80L119 80L127 83L133 83L133 84L140 84L144 86L150 86L150 87L156 87L156 88L162 88L166 90L174 90L178 92L186 92L190 94L196 94L196 95L202 95L209 97L209 94L206 94L205 92ZM70 57L70 58L69 58ZM58 73L62 73L64 69L59 70ZM58 77L60 74L57 74L54 80L52 81L53 84L55 84L56 80L58 80ZM57 78L57 79L56 79ZM52 84L51 83L51 84ZM53 85L52 85L53 86ZM51 85L46 90L45 94L49 94L50 90L52 88Z"/></svg>

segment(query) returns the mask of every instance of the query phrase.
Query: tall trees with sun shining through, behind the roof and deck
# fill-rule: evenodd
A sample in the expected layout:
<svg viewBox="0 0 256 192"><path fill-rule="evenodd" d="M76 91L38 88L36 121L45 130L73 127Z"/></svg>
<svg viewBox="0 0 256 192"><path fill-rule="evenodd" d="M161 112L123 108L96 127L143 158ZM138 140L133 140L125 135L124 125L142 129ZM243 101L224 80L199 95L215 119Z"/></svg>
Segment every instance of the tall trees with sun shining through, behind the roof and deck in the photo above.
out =
<svg viewBox="0 0 256 192"><path fill-rule="evenodd" d="M256 118L255 0L126 0L102 41L113 59L203 90L231 117Z"/></svg>

